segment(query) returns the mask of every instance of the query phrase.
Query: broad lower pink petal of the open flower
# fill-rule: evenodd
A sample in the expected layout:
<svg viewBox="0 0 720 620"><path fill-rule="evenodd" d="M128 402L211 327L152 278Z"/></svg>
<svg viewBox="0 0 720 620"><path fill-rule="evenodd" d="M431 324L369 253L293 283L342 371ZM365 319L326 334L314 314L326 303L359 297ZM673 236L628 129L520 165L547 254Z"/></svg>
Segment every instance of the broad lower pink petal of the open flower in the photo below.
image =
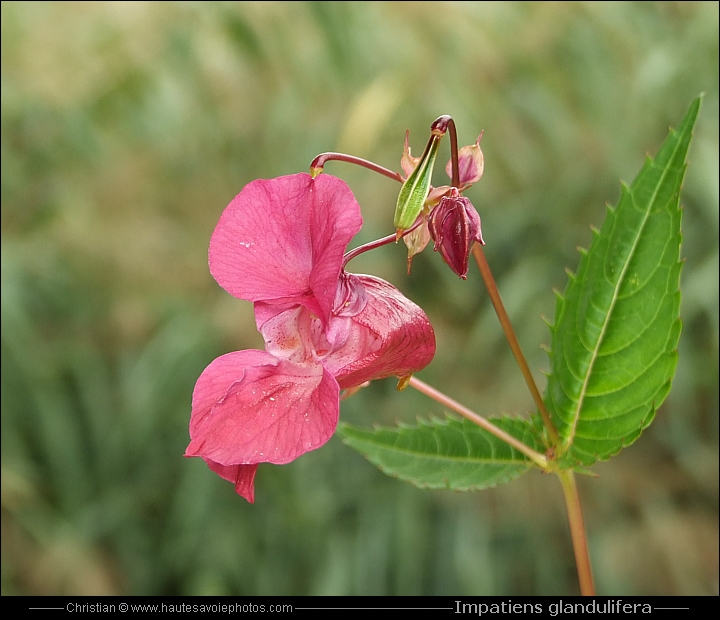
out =
<svg viewBox="0 0 720 620"><path fill-rule="evenodd" d="M197 381L185 455L224 466L288 463L330 439L338 414L338 384L320 364L228 353Z"/></svg>

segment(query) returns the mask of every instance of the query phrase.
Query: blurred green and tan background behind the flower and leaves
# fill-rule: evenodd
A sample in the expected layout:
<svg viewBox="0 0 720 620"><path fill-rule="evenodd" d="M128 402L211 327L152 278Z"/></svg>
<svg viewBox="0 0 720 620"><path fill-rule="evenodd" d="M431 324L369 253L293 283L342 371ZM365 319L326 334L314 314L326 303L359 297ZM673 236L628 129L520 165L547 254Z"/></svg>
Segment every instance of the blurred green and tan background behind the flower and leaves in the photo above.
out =
<svg viewBox="0 0 720 620"><path fill-rule="evenodd" d="M606 595L718 594L717 2L3 2L2 594L578 593L553 477L422 491L333 438L261 467L249 505L184 459L202 369L262 347L208 241L252 179L329 150L399 170L405 130L419 154L451 114L461 145L485 130L468 196L542 387L552 289L700 92L673 391L580 480ZM326 171L357 243L392 232L397 184ZM476 272L426 251L408 277L402 246L351 267L430 316L420 378L484 415L532 407ZM441 413L391 380L342 404L365 426Z"/></svg>

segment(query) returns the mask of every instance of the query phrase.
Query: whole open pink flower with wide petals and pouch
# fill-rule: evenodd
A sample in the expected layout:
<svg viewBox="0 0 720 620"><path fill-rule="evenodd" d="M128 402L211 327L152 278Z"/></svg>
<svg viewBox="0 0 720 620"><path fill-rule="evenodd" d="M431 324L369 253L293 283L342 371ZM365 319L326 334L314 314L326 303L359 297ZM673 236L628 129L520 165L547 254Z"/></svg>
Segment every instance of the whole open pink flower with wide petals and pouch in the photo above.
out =
<svg viewBox="0 0 720 620"><path fill-rule="evenodd" d="M347 185L322 174L253 181L210 240L210 271L255 304L265 351L228 353L200 375L190 445L254 501L258 463L288 463L335 431L340 390L409 375L435 353L425 313L391 284L342 269L360 230Z"/></svg>

